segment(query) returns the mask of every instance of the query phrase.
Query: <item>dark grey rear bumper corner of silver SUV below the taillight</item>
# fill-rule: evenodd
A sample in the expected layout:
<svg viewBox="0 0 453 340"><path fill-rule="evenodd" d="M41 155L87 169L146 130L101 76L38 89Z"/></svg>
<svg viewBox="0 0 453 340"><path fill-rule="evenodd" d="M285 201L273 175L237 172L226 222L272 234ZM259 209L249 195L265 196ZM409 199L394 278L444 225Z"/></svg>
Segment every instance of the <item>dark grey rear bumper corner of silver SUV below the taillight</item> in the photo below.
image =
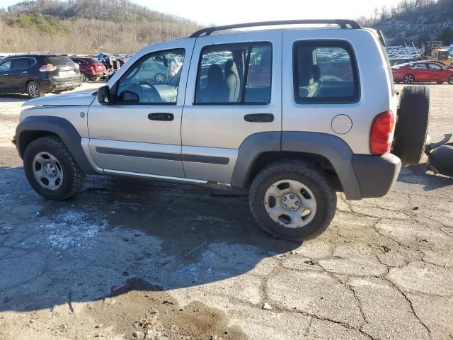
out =
<svg viewBox="0 0 453 340"><path fill-rule="evenodd" d="M352 168L362 198L385 196L398 179L401 160L394 154L352 155Z"/></svg>

